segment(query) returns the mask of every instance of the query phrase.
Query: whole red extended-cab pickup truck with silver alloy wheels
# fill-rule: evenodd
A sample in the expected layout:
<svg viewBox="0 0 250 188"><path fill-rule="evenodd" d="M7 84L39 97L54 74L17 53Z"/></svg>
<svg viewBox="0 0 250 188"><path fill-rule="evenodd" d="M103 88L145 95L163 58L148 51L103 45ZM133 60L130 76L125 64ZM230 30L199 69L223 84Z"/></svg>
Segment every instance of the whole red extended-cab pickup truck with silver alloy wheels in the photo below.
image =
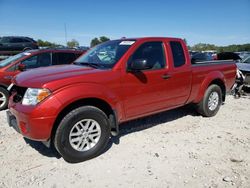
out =
<svg viewBox="0 0 250 188"><path fill-rule="evenodd" d="M80 162L100 155L121 122L189 103L214 116L235 76L233 61L192 65L181 39L113 40L72 65L17 75L7 117L23 136Z"/></svg>

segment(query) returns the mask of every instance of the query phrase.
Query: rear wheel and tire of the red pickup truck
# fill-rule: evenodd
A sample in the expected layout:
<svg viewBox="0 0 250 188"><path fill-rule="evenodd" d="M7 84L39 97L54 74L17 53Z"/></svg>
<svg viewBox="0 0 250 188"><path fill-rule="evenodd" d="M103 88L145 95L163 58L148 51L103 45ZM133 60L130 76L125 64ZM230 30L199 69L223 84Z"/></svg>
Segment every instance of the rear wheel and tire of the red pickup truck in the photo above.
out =
<svg viewBox="0 0 250 188"><path fill-rule="evenodd" d="M217 114L222 104L222 91L218 85L210 85L200 103L197 104L197 112L204 117L212 117Z"/></svg>

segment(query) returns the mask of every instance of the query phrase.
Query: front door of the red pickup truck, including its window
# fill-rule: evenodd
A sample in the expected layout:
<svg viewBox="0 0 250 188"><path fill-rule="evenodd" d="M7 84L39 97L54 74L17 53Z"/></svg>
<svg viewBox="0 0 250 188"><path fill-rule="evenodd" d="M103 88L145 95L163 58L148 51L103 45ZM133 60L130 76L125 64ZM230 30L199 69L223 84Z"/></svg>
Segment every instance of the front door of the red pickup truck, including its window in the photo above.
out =
<svg viewBox="0 0 250 188"><path fill-rule="evenodd" d="M141 44L129 58L127 67L133 61L147 60L152 68L127 71L122 76L123 103L127 119L165 107L165 57L164 43L153 41Z"/></svg>

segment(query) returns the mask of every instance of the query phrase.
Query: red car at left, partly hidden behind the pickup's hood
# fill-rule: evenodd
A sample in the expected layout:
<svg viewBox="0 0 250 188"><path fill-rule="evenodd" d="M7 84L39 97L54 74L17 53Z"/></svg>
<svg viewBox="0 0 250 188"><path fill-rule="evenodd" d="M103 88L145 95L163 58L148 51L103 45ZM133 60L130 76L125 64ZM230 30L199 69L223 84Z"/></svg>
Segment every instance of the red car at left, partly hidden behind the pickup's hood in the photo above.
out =
<svg viewBox="0 0 250 188"><path fill-rule="evenodd" d="M0 110L8 105L7 87L20 71L38 67L72 63L85 51L45 49L30 50L0 61Z"/></svg>

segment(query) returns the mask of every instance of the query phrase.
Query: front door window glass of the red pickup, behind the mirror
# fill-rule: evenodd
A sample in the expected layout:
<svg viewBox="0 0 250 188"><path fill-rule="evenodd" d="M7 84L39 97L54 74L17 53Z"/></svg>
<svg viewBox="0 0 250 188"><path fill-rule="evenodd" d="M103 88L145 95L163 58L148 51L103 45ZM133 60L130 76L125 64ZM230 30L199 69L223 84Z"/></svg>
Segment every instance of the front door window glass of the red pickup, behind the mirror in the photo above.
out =
<svg viewBox="0 0 250 188"><path fill-rule="evenodd" d="M138 59L146 60L151 70L165 67L165 55L162 42L146 42L142 44L132 55L130 62ZM150 69L149 69L150 70Z"/></svg>

